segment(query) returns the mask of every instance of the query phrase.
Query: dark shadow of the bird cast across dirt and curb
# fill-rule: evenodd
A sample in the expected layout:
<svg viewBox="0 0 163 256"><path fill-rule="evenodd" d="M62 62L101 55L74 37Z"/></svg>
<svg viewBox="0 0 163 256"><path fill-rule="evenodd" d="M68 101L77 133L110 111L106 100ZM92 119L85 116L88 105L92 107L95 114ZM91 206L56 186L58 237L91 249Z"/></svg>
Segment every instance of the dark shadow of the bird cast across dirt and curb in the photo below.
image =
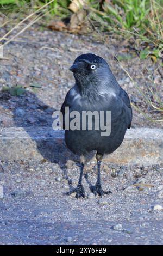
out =
<svg viewBox="0 0 163 256"><path fill-rule="evenodd" d="M62 170L71 189L72 181L68 177L66 163L67 160L73 160L78 164L77 157L66 148L65 142L62 139L56 140L52 137L40 140L33 136L33 131L38 128L44 129L46 127L49 131L54 132L52 129L54 121L52 114L56 109L45 104L36 96L35 93L32 92L26 92L21 96L10 96L9 93L8 95L7 93L0 93L1 104L5 102L9 104L9 108L12 109L14 126L23 127L30 138L35 141L37 150L44 160L60 166L60 169Z"/></svg>

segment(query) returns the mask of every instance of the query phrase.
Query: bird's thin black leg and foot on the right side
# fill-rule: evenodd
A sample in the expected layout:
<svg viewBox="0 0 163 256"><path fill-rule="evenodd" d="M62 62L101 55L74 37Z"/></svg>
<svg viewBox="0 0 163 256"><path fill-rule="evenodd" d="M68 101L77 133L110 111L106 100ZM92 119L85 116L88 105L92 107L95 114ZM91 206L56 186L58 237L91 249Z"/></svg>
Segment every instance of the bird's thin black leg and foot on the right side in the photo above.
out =
<svg viewBox="0 0 163 256"><path fill-rule="evenodd" d="M103 194L109 194L111 191L103 191L102 186L101 186L101 180L100 180L100 166L101 166L101 160L102 160L103 155L101 154L96 154L96 159L97 159L97 168L98 168L98 173L97 173L97 182L95 186L92 186L91 191L93 194L99 194L99 196L103 196Z"/></svg>

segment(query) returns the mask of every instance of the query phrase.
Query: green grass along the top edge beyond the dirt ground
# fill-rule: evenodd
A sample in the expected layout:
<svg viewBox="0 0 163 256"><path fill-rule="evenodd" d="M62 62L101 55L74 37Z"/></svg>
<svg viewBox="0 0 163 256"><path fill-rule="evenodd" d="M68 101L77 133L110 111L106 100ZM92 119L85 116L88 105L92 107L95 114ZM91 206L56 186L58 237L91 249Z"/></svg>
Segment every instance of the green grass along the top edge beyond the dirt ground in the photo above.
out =
<svg viewBox="0 0 163 256"><path fill-rule="evenodd" d="M9 13L13 7L20 11L36 10L50 0L0 0L0 11ZM68 9L70 0L54 0L48 5L53 16L60 18L70 17ZM47 9L46 8L46 9ZM140 40L152 40L159 46L163 42L163 0L112 0L100 1L85 0L92 22L95 22L103 31L112 31L129 36L134 33Z"/></svg>

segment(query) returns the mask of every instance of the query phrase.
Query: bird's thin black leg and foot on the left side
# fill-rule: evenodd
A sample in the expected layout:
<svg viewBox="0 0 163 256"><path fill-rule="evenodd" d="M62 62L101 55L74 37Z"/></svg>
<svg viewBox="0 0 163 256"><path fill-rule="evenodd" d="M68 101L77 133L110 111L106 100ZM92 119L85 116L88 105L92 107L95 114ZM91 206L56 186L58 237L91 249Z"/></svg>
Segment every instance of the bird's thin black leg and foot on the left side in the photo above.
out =
<svg viewBox="0 0 163 256"><path fill-rule="evenodd" d="M77 187L76 188L72 188L72 190L68 191L65 194L70 195L70 194L76 192L76 198L85 197L85 191L84 191L84 187L82 185L83 169L84 169L84 164L81 163L81 166L80 166L80 176L79 176L79 181L78 181Z"/></svg>

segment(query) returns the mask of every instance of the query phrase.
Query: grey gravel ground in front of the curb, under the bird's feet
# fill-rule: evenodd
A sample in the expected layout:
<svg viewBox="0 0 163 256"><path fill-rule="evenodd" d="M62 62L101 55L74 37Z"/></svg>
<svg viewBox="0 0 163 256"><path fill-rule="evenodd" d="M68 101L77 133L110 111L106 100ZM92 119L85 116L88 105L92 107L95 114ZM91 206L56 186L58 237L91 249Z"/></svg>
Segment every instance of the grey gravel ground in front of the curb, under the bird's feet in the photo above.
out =
<svg viewBox="0 0 163 256"><path fill-rule="evenodd" d="M94 196L96 163L85 167L87 197L65 196L76 186L79 168L43 161L1 163L2 245L162 245L163 166L105 164L102 185L109 196ZM69 182L70 183L70 182ZM135 185L134 185L135 184ZM3 186L3 194L2 194ZM155 207L154 207L155 206Z"/></svg>

